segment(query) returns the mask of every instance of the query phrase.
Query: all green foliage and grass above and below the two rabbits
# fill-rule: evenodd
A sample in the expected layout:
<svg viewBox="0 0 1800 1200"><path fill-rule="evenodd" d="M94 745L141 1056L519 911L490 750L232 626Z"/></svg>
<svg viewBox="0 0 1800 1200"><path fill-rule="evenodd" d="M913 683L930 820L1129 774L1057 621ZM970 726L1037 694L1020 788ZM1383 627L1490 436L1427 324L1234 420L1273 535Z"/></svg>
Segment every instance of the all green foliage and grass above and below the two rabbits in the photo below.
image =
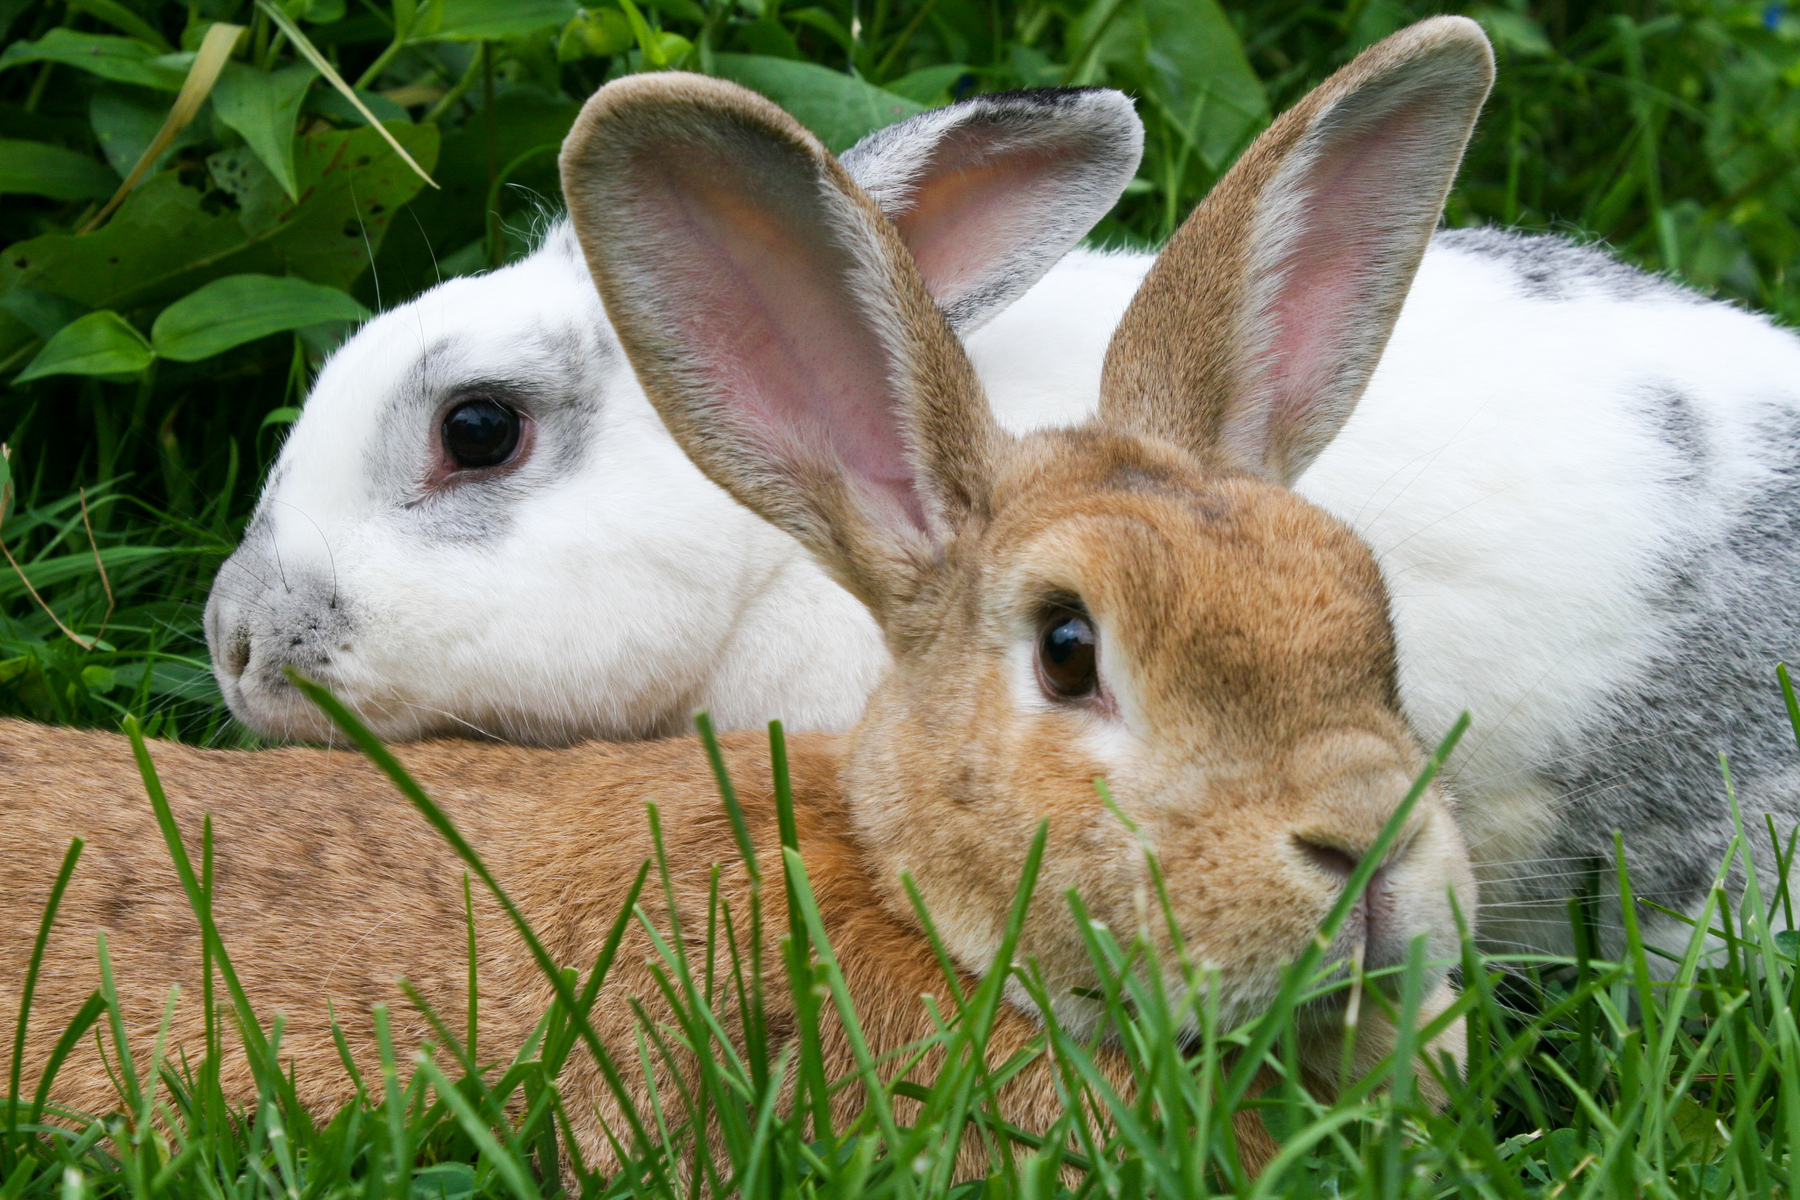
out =
<svg viewBox="0 0 1800 1200"><path fill-rule="evenodd" d="M331 313L389 306L522 254L554 201L556 142L614 74L680 65L747 79L835 146L970 90L1121 86L1139 99L1148 149L1096 236L1148 245L1271 112L1427 11L1397 0L1229 11L1211 0L607 0L580 13L567 0L0 0L0 435L13 448L0 542L18 560L18 570L0 563L0 711L95 725L131 712L164 736L239 739L207 675L200 608L319 356L346 329ZM1487 25L1501 61L1453 223L1604 237L1645 266L1800 320L1787 277L1800 250L1800 16L1714 0L1462 11ZM227 90L97 232L77 236L175 101L189 68L178 56L214 22L248 29ZM441 191L423 189L364 117L306 76L284 22ZM290 324L247 335L207 291L245 275L320 291L295 300ZM185 315L185 349L164 336L166 313ZM92 354L76 362L63 351L81 336ZM49 362L77 369L18 378ZM1597 880L1606 871L1597 864ZM1789 1166L1796 945L1768 919L1791 925L1791 900L1780 887L1724 907L1714 914L1723 955L1705 968L1690 955L1674 984L1652 982L1656 959L1636 943L1616 964L1471 950L1472 1052L1467 1079L1447 1081L1454 1103L1426 1106L1404 1072L1391 1094L1323 1108L1278 1090L1265 1119L1287 1139L1291 1169L1265 1177L1262 1195L1800 1195ZM1066 1132L1091 1169L1062 1171L1060 1137L1033 1150L988 1124L992 1178L950 1187L949 1155L983 1110L974 1063L992 997L972 997L943 1034L963 1069L923 1094L898 1144L871 1124L832 1137L781 1115L758 1124L767 1078L722 1069L711 1103L752 1117L725 1146L738 1182L770 1198L1249 1189L1220 1137L1246 1099L1233 1063L1264 1045L1282 1061L1280 1020L1226 1031L1197 997L1186 1011L1132 997L1120 968L1129 952L1094 946L1138 1097L1091 1087L1080 1040L1046 1034L1066 1065ZM812 970L823 975L792 986L830 982L828 966ZM1318 986L1300 972L1283 1002ZM1409 1002L1404 981L1393 995ZM108 1027L108 1004L103 995L94 1029ZM547 1045L567 1040L571 1020L551 1016ZM1174 1036L1184 1022L1197 1042ZM257 1105L232 1110L205 1061L140 1052L122 1078L122 1119L38 1137L29 1097L13 1110L0 1196L531 1195L551 1178L556 1146L533 1106L549 1051L517 1069L464 1069L455 1025L448 1016L439 1056L448 1076L396 1078L392 1090L371 1079L387 1099L329 1124L288 1103L279 1070L265 1072ZM580 1169L562 1182L589 1195L675 1191Z"/></svg>

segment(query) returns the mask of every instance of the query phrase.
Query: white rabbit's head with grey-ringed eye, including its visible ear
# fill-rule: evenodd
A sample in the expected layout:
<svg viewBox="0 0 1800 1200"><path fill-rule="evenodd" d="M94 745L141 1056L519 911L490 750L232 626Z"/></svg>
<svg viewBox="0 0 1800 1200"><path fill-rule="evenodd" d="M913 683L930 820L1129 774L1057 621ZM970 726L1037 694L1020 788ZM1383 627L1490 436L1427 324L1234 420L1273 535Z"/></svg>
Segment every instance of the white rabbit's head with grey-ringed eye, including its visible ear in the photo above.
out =
<svg viewBox="0 0 1800 1200"><path fill-rule="evenodd" d="M1114 203L1141 128L1105 90L976 97L846 167L968 333ZM295 667L389 739L562 743L779 716L833 729L886 662L862 608L680 453L567 225L382 313L326 363L207 603L232 712L329 738Z"/></svg>

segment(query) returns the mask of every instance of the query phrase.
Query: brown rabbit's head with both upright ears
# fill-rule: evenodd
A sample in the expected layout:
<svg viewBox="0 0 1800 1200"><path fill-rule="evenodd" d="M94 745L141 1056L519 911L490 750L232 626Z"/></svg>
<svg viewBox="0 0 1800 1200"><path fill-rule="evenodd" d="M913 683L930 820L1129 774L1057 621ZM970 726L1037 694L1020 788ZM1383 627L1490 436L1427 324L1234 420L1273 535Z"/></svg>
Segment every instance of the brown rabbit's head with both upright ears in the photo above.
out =
<svg viewBox="0 0 1800 1200"><path fill-rule="evenodd" d="M1328 79L1170 241L1100 416L1022 439L792 119L677 74L589 101L563 184L608 315L689 457L886 630L850 801L891 903L911 873L965 968L994 964L1048 819L1019 954L1064 1018L1093 973L1067 889L1177 961L1147 849L1188 957L1251 1015L1408 793L1381 572L1287 486L1381 356L1490 76L1476 25L1436 18ZM1337 950L1391 966L1424 934L1444 957L1472 887L1427 793Z"/></svg>

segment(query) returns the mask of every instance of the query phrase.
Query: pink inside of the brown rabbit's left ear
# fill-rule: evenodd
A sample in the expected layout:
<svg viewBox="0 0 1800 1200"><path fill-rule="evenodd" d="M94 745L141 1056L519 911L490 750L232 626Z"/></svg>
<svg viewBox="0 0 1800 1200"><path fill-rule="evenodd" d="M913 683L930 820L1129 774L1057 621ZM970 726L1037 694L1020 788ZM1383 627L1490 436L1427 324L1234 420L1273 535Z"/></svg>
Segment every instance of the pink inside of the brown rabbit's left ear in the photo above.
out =
<svg viewBox="0 0 1800 1200"><path fill-rule="evenodd" d="M832 459L884 522L925 531L900 435L893 363L851 290L851 259L767 198L661 164L657 279L691 367L770 462ZM677 175L686 178L677 178Z"/></svg>

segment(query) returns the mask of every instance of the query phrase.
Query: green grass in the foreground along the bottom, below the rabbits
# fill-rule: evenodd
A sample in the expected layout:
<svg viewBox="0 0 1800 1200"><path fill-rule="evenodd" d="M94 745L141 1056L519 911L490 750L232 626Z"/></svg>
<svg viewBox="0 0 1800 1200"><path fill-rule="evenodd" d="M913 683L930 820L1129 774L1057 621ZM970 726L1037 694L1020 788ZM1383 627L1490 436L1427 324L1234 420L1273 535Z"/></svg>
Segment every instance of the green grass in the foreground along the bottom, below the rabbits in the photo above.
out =
<svg viewBox="0 0 1800 1200"><path fill-rule="evenodd" d="M355 720L328 700L333 718L371 752L400 792L464 858L473 887L493 887L479 855L445 813ZM130 732L139 736L135 725ZM772 736L779 736L772 730ZM1454 736L1440 747L1442 761ZM214 874L209 837L193 862L162 801L149 757L140 766L216 973L207 990L212 1038L175 1047L139 1036L121 1042L122 1018L103 959L103 982L65 1033L65 1043L97 1038L115 1065L117 1108L76 1114L45 1106L49 1085L0 1106L0 1189L7 1196L1771 1196L1800 1191L1793 1146L1800 1133L1800 1031L1795 1027L1796 941L1786 928L1793 909L1787 873L1757 880L1741 847L1762 829L1739 828L1730 855L1750 873L1748 892L1714 889L1679 961L1652 970L1627 918L1620 961L1588 952L1573 959L1485 957L1463 945L1460 1002L1418 1033L1427 1040L1451 1016L1469 1022L1463 1072L1402 1045L1368 1076L1345 1076L1332 1101L1296 1079L1292 1013L1348 986L1364 1013L1384 1007L1402 1027L1418 1011L1415 948L1391 979L1328 979L1339 964L1309 954L1289 972L1267 1015L1226 1027L1208 1002L1208 975L1186 968L1181 995L1159 977L1143 937L1114 941L1094 928L1089 952L1100 981L1102 1031L1125 1054L1130 1087L1112 1090L1093 1058L1094 1042L1049 1020L1037 1043L1008 1061L990 1061L986 1031L1003 1002L1006 975L992 973L963 993L947 979L938 997L936 1034L887 1061L864 1056L857 1078L824 1079L808 1061L819 1022L833 1013L853 1025L835 957L824 941L799 855L779 871L767 858L752 891L751 937L722 939L713 914L704 939L659 939L661 975L673 1018L643 1027L650 1058L677 1047L704 1067L686 1108L653 1097L637 1110L634 1133L614 1130L626 1169L610 1177L571 1151L567 1110L556 1076L571 1054L587 1052L587 1009L605 979L612 948L630 921L650 918L621 898L607 952L594 964L551 961L522 918L513 919L558 991L536 1034L508 1060L477 1054L464 1031L468 1013L430 1013L437 1038L416 1069L410 1045L387 1038L387 1015L374 1015L382 1069L358 1078L365 1099L337 1114L308 1114L283 1070L281 1022L254 1013L236 988L230 946L209 919ZM1429 781L1429 770L1420 788ZM785 795L785 788L778 788ZM731 808L731 792L722 786ZM792 829L788 817L785 826ZM1399 828L1399 817L1390 831ZM191 833L191 831L189 831ZM1021 878L1021 900L1035 882L1039 840ZM1778 846L1791 862L1791 842ZM65 860L76 867L79 844ZM661 855L659 855L661 860ZM1373 862L1370 858L1368 862ZM648 864L639 887L662 887L664 867ZM1595 874L1607 871L1595 864ZM752 873L754 874L754 873ZM648 878L646 878L648 876ZM1719 880L1724 878L1721 864ZM1624 880L1629 894L1629 882ZM45 880L45 925L59 892ZM1355 882L1352 883L1352 887ZM504 903L504 900L502 900ZM1075 903L1071 900L1071 903ZM1327 928L1350 909L1348 892ZM1078 912L1078 909L1076 909ZM1627 912L1636 912L1627 907ZM1013 945L1024 905L1015 901L1006 943ZM925 914L922 914L923 918ZM1571 901L1577 945L1593 945L1595 907ZM929 928L929 918L927 928ZM1152 919L1156 919L1152 916ZM1708 934L1712 941L1708 943ZM722 991L756 993L747 961L763 939L779 939L799 1029L785 1040L761 1027L760 1006L745 1006L745 1043L718 1040L711 991L682 981L715 981ZM1321 939L1323 945L1325 939ZM473 954L472 945L472 954ZM104 943L101 943L104 955ZM1001 955L1010 957L1003 952ZM1341 972L1339 972L1341 975ZM1046 982L1026 963L1012 977L1049 1011ZM1377 986L1384 984L1384 986ZM173 1002L173 997L171 997ZM189 1000L191 1002L191 1000ZM29 1018L29 988L22 1002ZM1366 1020L1366 1016L1364 1016ZM749 1049L747 1049L749 1047ZM763 1052L756 1052L761 1047ZM877 1083L864 1114L833 1126L826 1096L869 1079L891 1079L927 1051L938 1072L920 1081ZM1030 1054L1055 1061L1066 1115L1042 1137L1004 1124L992 1088ZM254 1101L220 1090L221 1054L247 1054L257 1072ZM16 1058L13 1060L13 1078ZM1420 1092L1417 1063L1449 1103ZM1258 1067L1278 1079L1249 1094ZM637 1063L616 1061L619 1072ZM792 1103L778 1101L794 1085ZM1244 1171L1231 1119L1255 1108L1282 1141L1262 1177ZM697 1151L693 1130L677 1115L715 1115L715 1133ZM823 1114L823 1115L821 1115ZM961 1178L958 1150L983 1150L986 1173Z"/></svg>

